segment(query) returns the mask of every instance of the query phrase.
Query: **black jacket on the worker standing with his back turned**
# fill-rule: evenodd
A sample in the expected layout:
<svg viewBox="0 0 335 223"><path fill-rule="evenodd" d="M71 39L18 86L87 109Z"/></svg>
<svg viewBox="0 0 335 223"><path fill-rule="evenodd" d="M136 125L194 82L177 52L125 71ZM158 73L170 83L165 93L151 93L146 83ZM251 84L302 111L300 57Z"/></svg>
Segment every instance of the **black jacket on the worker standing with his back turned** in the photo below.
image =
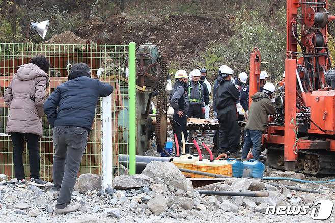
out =
<svg viewBox="0 0 335 223"><path fill-rule="evenodd" d="M224 109L231 105L236 105L240 92L235 85L228 80L221 80L217 86L214 102L217 110Z"/></svg>

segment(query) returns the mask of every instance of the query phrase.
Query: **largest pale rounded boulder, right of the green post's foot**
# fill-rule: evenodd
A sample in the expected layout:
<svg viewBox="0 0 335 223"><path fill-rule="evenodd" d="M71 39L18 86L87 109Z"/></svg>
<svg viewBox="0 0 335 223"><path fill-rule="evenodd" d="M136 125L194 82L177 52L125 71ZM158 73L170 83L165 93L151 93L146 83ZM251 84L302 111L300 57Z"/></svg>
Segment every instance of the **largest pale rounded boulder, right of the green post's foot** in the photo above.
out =
<svg viewBox="0 0 335 223"><path fill-rule="evenodd" d="M141 175L147 175L154 180L162 179L167 186L174 186L182 190L187 190L188 181L179 171L177 166L171 162L150 162Z"/></svg>

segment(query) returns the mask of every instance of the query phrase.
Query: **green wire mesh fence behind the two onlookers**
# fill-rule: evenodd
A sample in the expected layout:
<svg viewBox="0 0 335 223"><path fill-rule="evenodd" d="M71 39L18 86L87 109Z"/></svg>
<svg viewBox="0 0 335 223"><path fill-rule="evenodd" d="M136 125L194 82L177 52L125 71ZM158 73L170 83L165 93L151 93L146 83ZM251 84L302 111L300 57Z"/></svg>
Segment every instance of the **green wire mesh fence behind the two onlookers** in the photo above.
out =
<svg viewBox="0 0 335 223"><path fill-rule="evenodd" d="M113 167L119 169L118 154L128 154L129 143L129 45L85 45L77 44L20 44L0 43L0 173L14 178L13 144L6 132L8 107L4 103L4 92L18 66L29 63L36 55L45 55L50 62L47 97L61 83L67 81L71 66L87 63L92 78L108 82L114 87L112 94L112 145ZM83 155L79 174L101 174L101 99L89 134L86 152ZM80 116L80 114L78 114ZM23 117L24 118L24 117ZM41 178L52 181L53 130L46 117L42 118L43 136L40 139ZM23 153L25 174L29 177L29 155L26 145ZM120 173L120 172L119 172ZM122 171L121 171L122 173Z"/></svg>

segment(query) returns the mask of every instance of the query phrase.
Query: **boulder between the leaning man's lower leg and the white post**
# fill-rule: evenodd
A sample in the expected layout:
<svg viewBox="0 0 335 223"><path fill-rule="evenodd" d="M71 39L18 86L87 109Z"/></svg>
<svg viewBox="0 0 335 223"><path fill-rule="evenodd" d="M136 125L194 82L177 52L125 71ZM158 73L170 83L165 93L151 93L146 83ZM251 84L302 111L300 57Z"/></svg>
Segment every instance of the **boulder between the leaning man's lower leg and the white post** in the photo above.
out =
<svg viewBox="0 0 335 223"><path fill-rule="evenodd" d="M85 193L88 190L101 189L101 175L97 174L82 174L74 185L74 191Z"/></svg>

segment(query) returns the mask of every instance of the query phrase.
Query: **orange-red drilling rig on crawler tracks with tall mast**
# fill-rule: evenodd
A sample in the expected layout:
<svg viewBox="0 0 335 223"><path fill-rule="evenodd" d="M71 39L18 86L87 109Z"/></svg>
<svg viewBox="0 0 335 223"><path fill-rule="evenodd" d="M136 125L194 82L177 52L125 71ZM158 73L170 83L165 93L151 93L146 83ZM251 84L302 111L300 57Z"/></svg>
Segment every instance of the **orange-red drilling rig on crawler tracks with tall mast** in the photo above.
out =
<svg viewBox="0 0 335 223"><path fill-rule="evenodd" d="M263 134L268 164L310 175L335 173L335 69L327 25L335 16L326 0L288 0L285 94ZM250 96L259 89L260 53L250 58ZM251 99L249 100L251 103Z"/></svg>

